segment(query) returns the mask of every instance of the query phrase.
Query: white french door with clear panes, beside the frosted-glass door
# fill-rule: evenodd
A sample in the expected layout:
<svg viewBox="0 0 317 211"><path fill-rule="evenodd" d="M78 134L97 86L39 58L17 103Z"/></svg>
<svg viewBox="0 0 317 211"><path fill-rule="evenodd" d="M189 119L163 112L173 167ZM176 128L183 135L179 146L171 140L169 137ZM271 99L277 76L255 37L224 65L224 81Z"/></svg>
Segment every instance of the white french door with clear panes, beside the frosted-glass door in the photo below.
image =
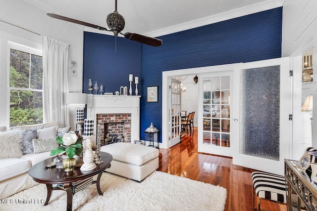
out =
<svg viewBox="0 0 317 211"><path fill-rule="evenodd" d="M201 74L199 78L198 151L232 157L230 97L233 71Z"/></svg>

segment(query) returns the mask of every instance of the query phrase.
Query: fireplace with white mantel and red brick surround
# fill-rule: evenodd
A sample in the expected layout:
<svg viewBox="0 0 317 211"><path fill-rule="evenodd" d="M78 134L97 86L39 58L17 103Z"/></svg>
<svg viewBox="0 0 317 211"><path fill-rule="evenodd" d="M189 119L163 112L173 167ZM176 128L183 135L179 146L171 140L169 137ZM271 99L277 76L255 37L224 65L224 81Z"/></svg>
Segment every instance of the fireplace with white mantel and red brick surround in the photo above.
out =
<svg viewBox="0 0 317 211"><path fill-rule="evenodd" d="M94 134L101 126L101 142L107 133L123 132L124 142L140 140L140 96L88 94L87 119L94 120ZM104 131L105 130L105 131ZM96 142L96 137L93 138Z"/></svg>

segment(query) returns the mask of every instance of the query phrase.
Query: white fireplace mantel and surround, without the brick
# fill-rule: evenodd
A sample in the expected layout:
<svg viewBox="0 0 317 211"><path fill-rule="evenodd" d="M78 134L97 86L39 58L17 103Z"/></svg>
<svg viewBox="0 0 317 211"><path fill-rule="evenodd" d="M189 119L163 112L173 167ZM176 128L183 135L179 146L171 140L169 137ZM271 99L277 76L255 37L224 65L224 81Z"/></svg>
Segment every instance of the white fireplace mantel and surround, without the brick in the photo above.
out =
<svg viewBox="0 0 317 211"><path fill-rule="evenodd" d="M94 134L97 134L97 114L131 114L131 143L140 140L140 97L88 94L87 119L94 120Z"/></svg>

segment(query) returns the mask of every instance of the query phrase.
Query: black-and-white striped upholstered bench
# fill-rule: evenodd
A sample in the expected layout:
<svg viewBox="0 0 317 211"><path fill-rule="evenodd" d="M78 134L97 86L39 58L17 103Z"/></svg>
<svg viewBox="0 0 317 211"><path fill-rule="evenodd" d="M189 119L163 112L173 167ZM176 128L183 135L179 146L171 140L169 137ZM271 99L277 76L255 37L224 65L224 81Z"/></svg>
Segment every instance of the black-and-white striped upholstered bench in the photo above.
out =
<svg viewBox="0 0 317 211"><path fill-rule="evenodd" d="M258 211L261 211L261 199L286 204L286 185L284 176L255 171L252 173L252 181L253 197L255 193L258 196ZM255 209L254 198L253 208Z"/></svg>

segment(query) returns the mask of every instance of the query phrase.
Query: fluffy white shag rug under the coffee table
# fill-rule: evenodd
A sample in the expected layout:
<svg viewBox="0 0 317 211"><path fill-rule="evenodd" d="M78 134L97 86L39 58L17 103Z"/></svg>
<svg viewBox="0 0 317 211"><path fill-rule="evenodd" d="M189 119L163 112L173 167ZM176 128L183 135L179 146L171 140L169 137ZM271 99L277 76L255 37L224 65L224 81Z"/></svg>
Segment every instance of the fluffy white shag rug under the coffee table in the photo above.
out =
<svg viewBox="0 0 317 211"><path fill-rule="evenodd" d="M75 193L73 211L223 211L227 194L223 187L160 171L141 183L104 172L100 184L103 196L96 184ZM0 200L0 210L66 210L65 191L54 190L44 206L46 196L46 185L39 184Z"/></svg>

